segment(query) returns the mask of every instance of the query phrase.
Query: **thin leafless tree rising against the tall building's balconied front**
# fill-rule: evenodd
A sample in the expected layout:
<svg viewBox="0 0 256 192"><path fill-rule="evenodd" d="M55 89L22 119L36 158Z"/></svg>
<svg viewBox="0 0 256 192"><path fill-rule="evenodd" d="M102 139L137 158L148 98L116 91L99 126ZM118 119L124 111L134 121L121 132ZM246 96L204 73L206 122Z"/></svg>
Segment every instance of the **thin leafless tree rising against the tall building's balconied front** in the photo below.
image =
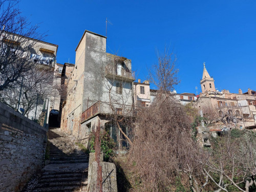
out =
<svg viewBox="0 0 256 192"><path fill-rule="evenodd" d="M134 110L132 105L127 105L129 102L132 104L132 100L129 101L129 99L132 99L132 83L131 81L128 82L127 79L133 79L134 77L132 71L130 71L131 69L125 65L124 60L126 58L123 59L123 57L116 55L107 56L106 65L101 71L104 71L102 73L103 87L108 92L109 108L112 111L109 116L110 121L113 121L117 125L118 130L124 136L125 140L132 145L132 140L121 127L122 124L131 130L131 117L133 116ZM108 74L112 75L108 76ZM116 135L119 135L118 130L116 130ZM121 138L117 137L119 148L122 145L121 142L123 139Z"/></svg>

